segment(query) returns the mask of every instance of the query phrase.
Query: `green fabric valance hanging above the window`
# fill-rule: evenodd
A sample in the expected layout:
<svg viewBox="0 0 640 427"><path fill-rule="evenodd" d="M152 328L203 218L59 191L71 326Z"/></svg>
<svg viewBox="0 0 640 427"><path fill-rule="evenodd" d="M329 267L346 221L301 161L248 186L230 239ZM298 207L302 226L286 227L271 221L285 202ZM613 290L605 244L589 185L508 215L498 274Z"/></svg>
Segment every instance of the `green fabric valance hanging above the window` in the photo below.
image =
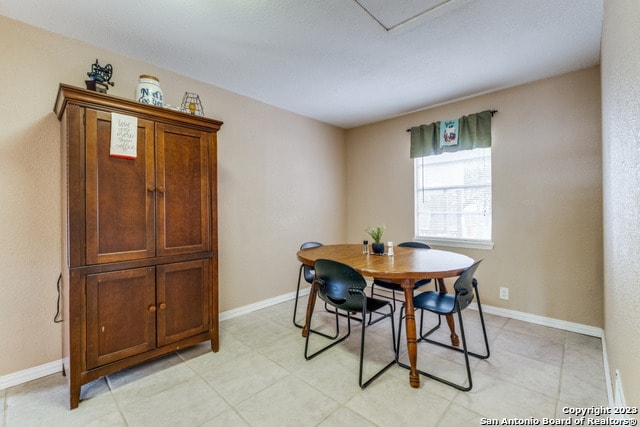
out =
<svg viewBox="0 0 640 427"><path fill-rule="evenodd" d="M440 123L412 127L411 158L432 156L446 152L491 147L491 117L495 111L486 110L458 119L458 142L455 145L440 144Z"/></svg>

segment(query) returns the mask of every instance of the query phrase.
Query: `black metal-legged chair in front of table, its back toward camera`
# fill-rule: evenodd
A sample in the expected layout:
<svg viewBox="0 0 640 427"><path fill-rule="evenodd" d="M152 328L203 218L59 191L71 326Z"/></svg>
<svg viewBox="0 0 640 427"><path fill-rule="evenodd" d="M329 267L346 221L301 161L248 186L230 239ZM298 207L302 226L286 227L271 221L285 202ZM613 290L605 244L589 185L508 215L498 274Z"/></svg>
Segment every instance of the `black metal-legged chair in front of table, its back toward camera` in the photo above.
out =
<svg viewBox="0 0 640 427"><path fill-rule="evenodd" d="M385 300L379 300L367 296L365 288L367 282L360 273L354 270L352 267L342 264L337 261L319 259L314 265L316 271L316 278L314 286L317 287L318 296L324 300L328 305L333 306L336 311L341 310L346 313L361 313L362 319L365 319L367 313L375 311L381 315L376 319L379 322L383 319L389 319L391 322L391 345L389 350L393 350L394 360L389 361L384 367L373 374L368 380L363 381L363 367L364 367L364 350L365 350L365 332L368 329L366 322L361 322L362 330L360 335L360 370L358 377L358 384L362 389L366 388L373 380L378 378L382 373L395 364L396 361L396 342L395 342L395 326L393 320L393 307L391 303ZM382 313L381 310L388 309L387 313ZM347 315L347 332L342 337L339 337L339 331L337 335L339 338L333 340L332 343L316 350L314 353L309 354L309 340L311 335L315 334L311 329L313 319L313 312L309 316L309 332L307 333L307 339L304 345L304 357L310 360L325 350L334 347L349 337L351 334L351 316Z"/></svg>

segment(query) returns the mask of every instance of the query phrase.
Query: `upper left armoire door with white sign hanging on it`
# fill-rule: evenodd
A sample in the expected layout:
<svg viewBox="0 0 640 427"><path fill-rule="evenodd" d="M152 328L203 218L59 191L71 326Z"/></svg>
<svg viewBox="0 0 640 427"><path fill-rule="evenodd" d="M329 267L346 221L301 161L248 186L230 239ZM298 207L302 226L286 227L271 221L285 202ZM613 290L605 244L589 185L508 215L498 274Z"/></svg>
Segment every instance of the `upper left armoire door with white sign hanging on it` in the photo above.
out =
<svg viewBox="0 0 640 427"><path fill-rule="evenodd" d="M111 113L86 109L87 264L155 255L154 123L138 118L135 158L110 155Z"/></svg>

